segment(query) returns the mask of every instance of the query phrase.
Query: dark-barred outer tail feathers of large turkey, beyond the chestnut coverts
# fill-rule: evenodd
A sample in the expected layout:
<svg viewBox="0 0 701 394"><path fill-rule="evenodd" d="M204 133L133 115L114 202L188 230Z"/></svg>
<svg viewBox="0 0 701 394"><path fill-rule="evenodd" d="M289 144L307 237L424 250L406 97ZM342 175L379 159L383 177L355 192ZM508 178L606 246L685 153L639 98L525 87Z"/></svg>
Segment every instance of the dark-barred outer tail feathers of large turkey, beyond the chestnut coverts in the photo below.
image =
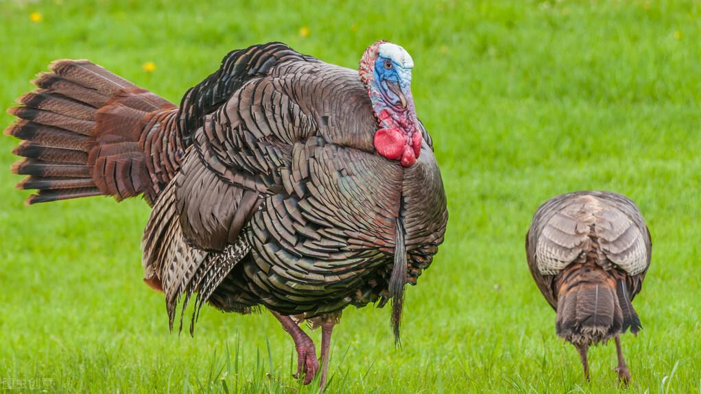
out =
<svg viewBox="0 0 701 394"><path fill-rule="evenodd" d="M37 190L27 204L102 194L93 181L88 153L94 144L97 108L107 102L109 92L84 85L86 78L76 71L95 74L99 67L70 60L50 67L52 73L34 80L39 89L24 94L18 99L21 106L8 110L19 119L5 134L24 140L13 150L24 159L11 170L28 176L17 187Z"/></svg>

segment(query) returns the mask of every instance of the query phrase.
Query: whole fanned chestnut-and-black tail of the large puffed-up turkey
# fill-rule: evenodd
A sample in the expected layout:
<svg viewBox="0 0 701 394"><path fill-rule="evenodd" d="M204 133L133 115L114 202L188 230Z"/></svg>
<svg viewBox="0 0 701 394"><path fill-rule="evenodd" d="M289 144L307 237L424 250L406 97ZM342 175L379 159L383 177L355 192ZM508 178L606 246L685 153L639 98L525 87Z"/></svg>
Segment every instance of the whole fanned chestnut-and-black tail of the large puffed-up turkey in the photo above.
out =
<svg viewBox="0 0 701 394"><path fill-rule="evenodd" d="M161 132L177 107L87 60L50 69L20 97L22 106L8 110L19 119L6 134L24 140L13 151L25 157L12 167L27 175L18 188L37 190L27 204L147 191L154 183L145 160L149 132Z"/></svg>

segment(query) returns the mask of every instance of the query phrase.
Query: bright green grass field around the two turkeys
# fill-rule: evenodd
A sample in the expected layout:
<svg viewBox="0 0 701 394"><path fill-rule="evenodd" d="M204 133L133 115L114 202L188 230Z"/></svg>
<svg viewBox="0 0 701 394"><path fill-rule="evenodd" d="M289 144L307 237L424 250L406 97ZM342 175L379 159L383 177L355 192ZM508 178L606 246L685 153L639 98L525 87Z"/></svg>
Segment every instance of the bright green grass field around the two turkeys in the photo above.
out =
<svg viewBox="0 0 701 394"><path fill-rule="evenodd" d="M353 69L379 38L403 45L448 232L407 292L403 349L388 309L346 309L328 391L701 393L700 18L693 1L0 0L0 108L57 58L91 59L179 102L252 43ZM24 206L15 144L0 139L1 390L35 379L67 393L315 392L292 379L292 341L270 314L205 308L194 338L169 333L163 296L142 283L148 206ZM526 265L538 204L580 189L628 195L653 235L634 303L644 331L622 338L628 389L613 344L592 349L584 381Z"/></svg>

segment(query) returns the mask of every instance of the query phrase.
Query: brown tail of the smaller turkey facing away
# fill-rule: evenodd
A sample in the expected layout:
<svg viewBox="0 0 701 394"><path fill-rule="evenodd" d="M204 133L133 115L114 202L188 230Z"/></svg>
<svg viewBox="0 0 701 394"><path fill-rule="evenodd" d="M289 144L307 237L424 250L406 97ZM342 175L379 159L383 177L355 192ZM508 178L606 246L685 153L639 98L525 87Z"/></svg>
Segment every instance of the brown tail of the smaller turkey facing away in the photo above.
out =
<svg viewBox="0 0 701 394"><path fill-rule="evenodd" d="M557 335L572 344L588 346L622 332L625 318L616 283L610 272L595 263L575 263L564 269L558 280ZM637 319L637 314L630 302L626 307L633 331L632 316Z"/></svg>

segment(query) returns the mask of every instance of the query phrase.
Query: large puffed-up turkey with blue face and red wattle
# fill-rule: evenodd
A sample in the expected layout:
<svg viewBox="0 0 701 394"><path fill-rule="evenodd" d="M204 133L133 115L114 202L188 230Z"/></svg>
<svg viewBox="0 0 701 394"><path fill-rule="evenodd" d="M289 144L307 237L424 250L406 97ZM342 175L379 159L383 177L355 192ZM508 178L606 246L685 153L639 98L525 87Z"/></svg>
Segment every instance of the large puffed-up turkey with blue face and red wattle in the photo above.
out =
<svg viewBox="0 0 701 394"><path fill-rule="evenodd" d="M348 305L393 301L443 240L446 200L411 97L414 63L378 41L360 73L283 43L224 57L180 106L86 60L60 60L11 108L28 204L143 195L144 281L170 328L196 293L223 311L270 309L294 339L298 376L319 363L300 321L322 327L325 384ZM180 328L182 329L182 311ZM293 320L294 319L294 320Z"/></svg>

